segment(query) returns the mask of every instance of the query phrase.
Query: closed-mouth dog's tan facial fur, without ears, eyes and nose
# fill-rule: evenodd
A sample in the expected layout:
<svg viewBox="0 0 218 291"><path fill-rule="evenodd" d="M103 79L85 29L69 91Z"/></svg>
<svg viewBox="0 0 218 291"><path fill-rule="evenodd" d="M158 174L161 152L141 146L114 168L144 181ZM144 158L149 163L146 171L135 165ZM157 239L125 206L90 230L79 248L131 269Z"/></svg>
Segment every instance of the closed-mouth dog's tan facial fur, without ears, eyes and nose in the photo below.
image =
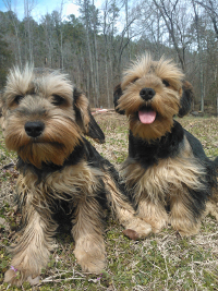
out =
<svg viewBox="0 0 218 291"><path fill-rule="evenodd" d="M53 94L60 94L65 102L60 107L53 106L50 102ZM24 161L29 161L37 168L41 167L43 161L62 165L81 140L72 107L72 94L73 85L63 74L52 72L41 76L32 66L25 66L23 72L19 69L11 71L3 97L7 147L16 150ZM17 105L15 97L20 95L25 98ZM33 143L24 130L27 121L35 120L40 120L46 125L37 143Z"/></svg>

